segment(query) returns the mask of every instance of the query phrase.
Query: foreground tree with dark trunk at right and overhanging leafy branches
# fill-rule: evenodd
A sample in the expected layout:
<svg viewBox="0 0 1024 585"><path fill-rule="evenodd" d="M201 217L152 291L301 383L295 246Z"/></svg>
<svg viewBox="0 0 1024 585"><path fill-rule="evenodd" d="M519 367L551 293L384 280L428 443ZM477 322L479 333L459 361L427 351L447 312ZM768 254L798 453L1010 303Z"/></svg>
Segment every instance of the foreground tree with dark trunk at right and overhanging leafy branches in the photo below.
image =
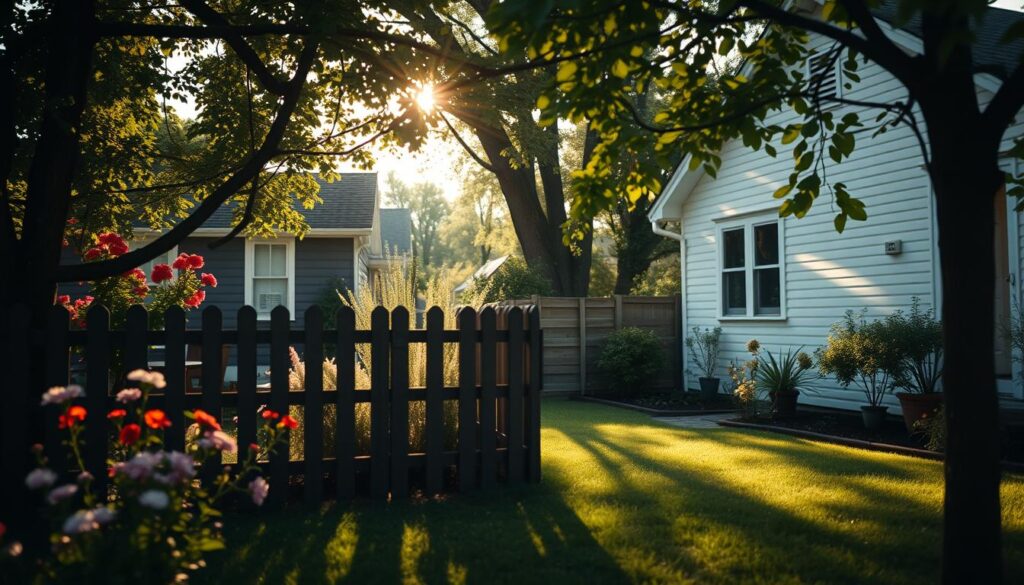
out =
<svg viewBox="0 0 1024 585"><path fill-rule="evenodd" d="M703 166L715 176L718 151L739 139L768 156L772 144L793 144L794 171L774 196L779 214L803 217L822 187L831 195L836 228L865 220L856 185L829 182L825 156L841 163L853 152L857 134L884 132L908 124L921 142L931 178L939 226L945 344L944 388L947 420L943 576L948 583L1000 581L998 399L993 364L994 205L1008 177L999 154L1020 159L1024 140L1011 141L1008 127L1024 106L1024 65L1018 56L1006 69L979 62L972 27L984 17L984 0L923 2L899 0L891 12L897 26L920 22L922 50L908 53L876 20L870 0L826 0L820 13L800 3L761 0L657 2L651 9L628 9L608 0L553 2L545 13L509 2L497 7L490 24L511 54L525 51L557 67L555 83L538 100L541 123L560 117L590 120L599 136L591 165L578 181L572 217L592 217L613 201L605 197L601 169L640 149L678 143L689 168ZM808 33L833 41L824 54L841 64L855 83L859 64L873 61L904 87L891 101L852 101L824 95L823 75L804 74ZM1024 37L1010 28L1004 44ZM595 46L605 50L595 51ZM1009 46L1006 50L1016 49ZM738 54L744 67L708 84L717 55ZM831 68L823 68L829 71ZM1001 86L979 103L975 75L999 77ZM637 115L631 98L637 87L655 84L671 101L651 123ZM823 106L854 107L837 119ZM792 109L799 123L766 122L772 112ZM863 118L862 118L863 117ZM920 119L919 119L920 118ZM631 129L632 121L647 132ZM550 123L549 122L549 123ZM925 128L927 128L927 135ZM667 166L667 160L660 162ZM638 160L628 177L629 201L662 189L657 172ZM1017 185L1019 177L1011 178ZM767 195L767 194L766 194ZM964 286L964 283L971 283Z"/></svg>

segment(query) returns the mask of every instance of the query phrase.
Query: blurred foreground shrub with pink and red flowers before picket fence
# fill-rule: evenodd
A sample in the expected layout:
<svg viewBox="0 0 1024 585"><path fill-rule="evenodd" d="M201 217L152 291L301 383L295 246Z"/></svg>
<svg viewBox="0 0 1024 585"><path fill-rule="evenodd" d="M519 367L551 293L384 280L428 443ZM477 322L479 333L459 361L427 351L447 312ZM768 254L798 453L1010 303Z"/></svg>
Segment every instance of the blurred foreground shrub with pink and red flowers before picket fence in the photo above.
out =
<svg viewBox="0 0 1024 585"><path fill-rule="evenodd" d="M113 457L106 499L90 489L93 476L84 471L81 435L89 413L75 404L83 395L78 386L55 387L43 394L42 404L60 408L60 427L67 431L73 460L83 469L74 482L56 486L58 475L47 467L42 448L34 449L38 467L26 476L26 485L44 494L50 506L54 531L50 537L52 556L42 572L47 582L104 582L118 575L140 582L171 583L187 580L204 566L203 555L223 548L218 504L232 493L247 494L256 505L263 503L269 485L258 476L260 448L246 449L239 456L237 471L224 468L209 485L196 479L197 469L217 453L238 453L234 438L224 432L216 417L197 410L186 413L193 420L190 433L199 436L185 453L163 448L164 431L171 425L166 413L146 405L153 388L166 385L159 373L135 370L128 379L138 388L121 390L117 402L124 408L105 413L114 425ZM288 442L295 421L272 411L263 411L261 432L271 452Z"/></svg>

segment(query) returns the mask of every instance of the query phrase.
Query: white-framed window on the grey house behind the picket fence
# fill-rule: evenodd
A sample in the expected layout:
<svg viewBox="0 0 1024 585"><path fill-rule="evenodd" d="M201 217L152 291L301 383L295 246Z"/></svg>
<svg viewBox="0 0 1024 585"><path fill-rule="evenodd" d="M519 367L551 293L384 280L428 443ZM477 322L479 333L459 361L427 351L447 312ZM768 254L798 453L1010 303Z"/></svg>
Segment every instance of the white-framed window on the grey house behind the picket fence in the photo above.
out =
<svg viewBox="0 0 1024 585"><path fill-rule="evenodd" d="M246 241L246 304L269 319L279 304L295 318L295 241Z"/></svg>

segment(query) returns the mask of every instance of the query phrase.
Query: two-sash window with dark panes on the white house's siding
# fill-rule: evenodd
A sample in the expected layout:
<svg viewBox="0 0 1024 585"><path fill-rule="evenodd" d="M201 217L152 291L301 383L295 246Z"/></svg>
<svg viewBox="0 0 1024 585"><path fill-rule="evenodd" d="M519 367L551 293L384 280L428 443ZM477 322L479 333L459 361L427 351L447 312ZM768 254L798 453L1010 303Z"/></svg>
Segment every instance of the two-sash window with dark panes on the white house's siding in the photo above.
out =
<svg viewBox="0 0 1024 585"><path fill-rule="evenodd" d="M781 225L762 217L719 226L723 319L783 317Z"/></svg>

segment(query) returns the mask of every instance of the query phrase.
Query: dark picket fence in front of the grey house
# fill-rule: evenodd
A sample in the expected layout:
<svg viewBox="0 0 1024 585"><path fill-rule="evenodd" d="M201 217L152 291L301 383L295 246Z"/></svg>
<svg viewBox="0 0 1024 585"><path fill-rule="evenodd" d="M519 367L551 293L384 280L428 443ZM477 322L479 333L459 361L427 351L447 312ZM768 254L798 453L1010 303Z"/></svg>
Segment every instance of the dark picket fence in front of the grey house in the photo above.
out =
<svg viewBox="0 0 1024 585"><path fill-rule="evenodd" d="M271 504L281 504L288 494L302 493L307 503L325 497L325 486L333 483L337 498L352 498L360 493L372 498L402 498L412 487L427 495L454 487L470 491L498 482L509 484L538 482L541 473L541 337L540 316L535 307L484 307L459 311L457 330L445 330L441 309L426 314L425 329L411 330L404 307L387 311L378 307L372 315L370 330L357 330L355 315L344 307L338 310L336 327L325 329L318 306L304 315L304 327L292 329L288 309L279 306L270 317L269 329L257 328L256 311L246 306L238 312L233 330L221 327L221 310L210 306L203 310L202 329L188 330L185 315L178 307L164 316L164 330L150 330L147 314L141 306L132 307L123 331L109 328L104 307L89 310L85 330L69 329L68 312L54 307L48 316L45 345L47 386L66 385L70 379L69 361L73 348L80 351L84 364L88 409L84 460L96 478L98 490L105 490L108 445L111 423L103 416L114 407L114 390L121 380L111 379L112 359L120 360L123 371L146 368L152 346L163 346L161 370L167 387L151 394L150 407L164 410L172 425L166 430L167 449L182 450L188 424L186 411L201 408L220 418L225 409L237 413L237 436L240 450L257 440L258 408L266 405L278 412L290 406L303 408L302 429L304 457L289 460L288 449L279 449L263 464L270 483ZM11 322L12 338L28 338L29 320L15 311ZM20 336L20 337L19 337ZM410 387L409 350L411 344L426 344L426 387ZM269 387L257 385L257 346L269 345ZM445 344L458 346L458 385L444 385L443 352ZM185 380L186 346L202 347L201 389L187 391ZM223 387L223 346L233 345L238 381ZM301 345L305 363L305 388L289 388L289 347ZM333 345L338 368L337 388L323 387L325 345ZM30 425L26 412L38 405L38 393L18 392L28 387L32 353L30 343L20 345L24 354L7 356L17 365L22 387L8 387L19 394L3 411L5 427L4 471L24 458L28 451ZM371 388L355 388L357 347L370 348ZM365 351L364 351L365 353ZM116 384L117 382L118 384ZM264 385L265 386L265 385ZM40 390L41 393L41 390ZM12 394L8 394L11 395ZM425 448L410 450L410 405L425 402ZM446 402L457 404L458 441L454 450L445 450L443 411ZM370 454L356 454L355 408L370 404ZM335 405L335 457L324 455L324 407ZM46 452L51 461L67 461L57 431L56 409L45 409ZM450 445L451 447L451 445ZM201 471L210 477L221 465L212 461ZM24 469L22 469L24 471ZM68 471L72 471L68 468ZM8 475L9 477L9 475ZM17 474L15 477L24 477ZM301 480L300 480L301 479ZM285 487L285 488L283 488ZM276 488L276 489L273 489Z"/></svg>

